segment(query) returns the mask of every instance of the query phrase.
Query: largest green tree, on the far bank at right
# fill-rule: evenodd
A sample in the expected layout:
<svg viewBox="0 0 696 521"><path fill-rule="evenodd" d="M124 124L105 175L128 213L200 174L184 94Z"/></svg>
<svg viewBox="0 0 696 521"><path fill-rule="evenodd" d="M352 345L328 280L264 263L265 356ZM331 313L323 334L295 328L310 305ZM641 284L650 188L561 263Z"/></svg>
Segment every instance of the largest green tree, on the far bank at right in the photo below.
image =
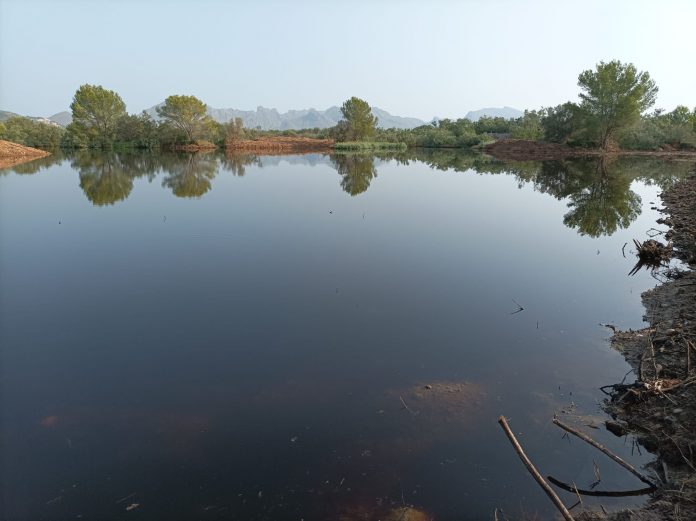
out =
<svg viewBox="0 0 696 521"><path fill-rule="evenodd" d="M600 62L596 70L580 73L578 86L584 91L580 108L604 149L618 130L638 122L654 105L658 90L650 74L618 60Z"/></svg>

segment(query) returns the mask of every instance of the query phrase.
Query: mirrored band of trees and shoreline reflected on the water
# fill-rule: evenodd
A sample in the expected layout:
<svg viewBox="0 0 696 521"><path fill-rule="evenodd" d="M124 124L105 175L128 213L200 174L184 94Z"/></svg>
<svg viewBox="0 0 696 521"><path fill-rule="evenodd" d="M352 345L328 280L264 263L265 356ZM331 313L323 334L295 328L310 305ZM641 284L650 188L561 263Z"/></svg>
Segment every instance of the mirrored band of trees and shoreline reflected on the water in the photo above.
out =
<svg viewBox="0 0 696 521"><path fill-rule="evenodd" d="M31 174L61 161L55 155L16 165L1 172ZM249 167L269 168L281 161L323 164L336 170L341 188L350 196L365 193L384 161L424 163L436 171L512 175L521 187L567 203L563 223L581 235L599 237L626 228L641 212L641 199L631 190L634 181L666 189L692 170L688 161L659 158L576 158L562 161L500 161L483 154L458 150L407 150L397 153L340 153L306 156L256 156L220 153L136 153L82 151L70 157L78 171L80 187L96 206L123 201L133 191L134 180L152 181L162 175L162 186L177 197L200 198L213 187L220 172L243 177Z"/></svg>

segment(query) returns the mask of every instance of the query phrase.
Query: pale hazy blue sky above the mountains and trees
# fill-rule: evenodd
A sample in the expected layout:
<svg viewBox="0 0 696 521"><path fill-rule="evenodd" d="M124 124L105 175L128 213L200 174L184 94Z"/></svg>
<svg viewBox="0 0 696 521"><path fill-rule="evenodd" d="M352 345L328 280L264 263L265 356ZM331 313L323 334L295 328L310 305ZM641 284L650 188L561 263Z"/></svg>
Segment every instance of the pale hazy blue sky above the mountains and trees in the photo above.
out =
<svg viewBox="0 0 696 521"><path fill-rule="evenodd" d="M600 60L696 106L696 1L0 0L0 109L51 115L82 83L129 112L170 94L281 111L350 96L402 116L576 99Z"/></svg>

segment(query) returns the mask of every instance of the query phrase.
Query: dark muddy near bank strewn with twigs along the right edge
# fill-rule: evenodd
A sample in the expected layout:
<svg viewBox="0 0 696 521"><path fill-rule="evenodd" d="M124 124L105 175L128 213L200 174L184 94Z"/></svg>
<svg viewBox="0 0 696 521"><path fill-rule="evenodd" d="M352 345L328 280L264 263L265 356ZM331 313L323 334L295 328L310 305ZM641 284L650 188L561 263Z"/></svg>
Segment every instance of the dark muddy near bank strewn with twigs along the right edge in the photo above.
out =
<svg viewBox="0 0 696 521"><path fill-rule="evenodd" d="M672 255L688 268L665 270L666 282L643 293L649 327L614 334L636 382L612 386L606 404L617 435L635 434L657 456L659 487L642 509L580 519L696 519L696 176L662 199Z"/></svg>

